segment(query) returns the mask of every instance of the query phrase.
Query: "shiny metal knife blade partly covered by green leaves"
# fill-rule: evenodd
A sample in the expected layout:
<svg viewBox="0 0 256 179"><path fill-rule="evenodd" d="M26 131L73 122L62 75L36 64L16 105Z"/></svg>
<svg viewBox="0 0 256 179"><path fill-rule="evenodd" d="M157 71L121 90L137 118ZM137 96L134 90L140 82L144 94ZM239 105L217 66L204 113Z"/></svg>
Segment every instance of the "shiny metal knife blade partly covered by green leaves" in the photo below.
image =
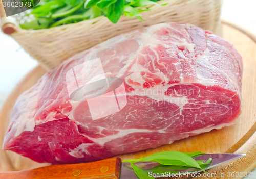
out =
<svg viewBox="0 0 256 179"><path fill-rule="evenodd" d="M208 170L213 167L217 167L219 165L222 165L224 163L239 159L241 157L246 156L245 154L204 154L198 157L193 157L195 160L202 160L206 162L209 158L212 158L211 165L209 164L204 170ZM156 162L138 162L135 163L138 167L142 167L141 169L150 171L151 168L159 165ZM134 171L131 169L130 163L122 163L121 165L121 171L120 171L120 179L137 179L137 176L135 175ZM202 170L197 169L185 169L185 170L167 170L166 171L177 171L183 174L183 172L188 173L198 173L202 172ZM152 173L153 174L153 173ZM157 175L157 173L155 173ZM159 178L159 177L155 177Z"/></svg>

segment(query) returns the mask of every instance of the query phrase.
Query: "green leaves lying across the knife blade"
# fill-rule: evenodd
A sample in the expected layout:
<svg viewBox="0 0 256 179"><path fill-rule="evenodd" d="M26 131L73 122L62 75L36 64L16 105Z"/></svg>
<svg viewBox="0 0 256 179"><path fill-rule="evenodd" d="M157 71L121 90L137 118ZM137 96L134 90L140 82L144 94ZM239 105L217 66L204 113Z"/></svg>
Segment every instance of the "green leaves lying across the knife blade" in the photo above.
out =
<svg viewBox="0 0 256 179"><path fill-rule="evenodd" d="M212 159L209 158L209 160L204 163L203 161L198 161L192 158L192 157L200 156L202 154L205 154L205 153L201 151L195 151L195 152L163 151L163 152L158 152L156 154L152 154L151 156L147 156L144 158L141 157L140 159L123 160L122 163L130 162L136 176L139 179L147 179L147 178L154 178L153 176L150 176L148 172L159 173L159 174L161 173L164 174L166 171L168 171L168 173L179 173L177 171L172 171L172 170L184 170L189 168L194 168L194 169L204 171L205 166L210 162L212 162ZM159 165L151 169L143 170L134 164L136 162L157 162L159 163ZM204 172L207 173L206 171Z"/></svg>

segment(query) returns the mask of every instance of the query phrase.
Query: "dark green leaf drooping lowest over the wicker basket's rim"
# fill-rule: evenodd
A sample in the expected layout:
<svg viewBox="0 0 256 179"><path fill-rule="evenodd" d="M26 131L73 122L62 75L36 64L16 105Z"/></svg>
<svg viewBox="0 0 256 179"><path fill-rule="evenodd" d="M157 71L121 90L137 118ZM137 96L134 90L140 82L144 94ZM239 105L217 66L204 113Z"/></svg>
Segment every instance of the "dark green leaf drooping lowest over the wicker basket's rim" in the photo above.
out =
<svg viewBox="0 0 256 179"><path fill-rule="evenodd" d="M124 0L117 0L115 3L108 7L108 13L106 17L112 22L117 23L121 17L124 9Z"/></svg>

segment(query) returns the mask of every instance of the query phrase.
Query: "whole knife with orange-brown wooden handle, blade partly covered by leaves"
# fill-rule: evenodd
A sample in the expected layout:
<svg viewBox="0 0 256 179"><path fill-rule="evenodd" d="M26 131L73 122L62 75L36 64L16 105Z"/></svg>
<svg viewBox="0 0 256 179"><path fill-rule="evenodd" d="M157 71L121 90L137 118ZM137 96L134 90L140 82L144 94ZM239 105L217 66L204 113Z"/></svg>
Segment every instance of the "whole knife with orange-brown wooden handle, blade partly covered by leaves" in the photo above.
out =
<svg viewBox="0 0 256 179"><path fill-rule="evenodd" d="M202 160L206 162L212 158L212 163L204 168L204 170L219 166L221 164L230 162L232 160L244 157L245 154L204 154L198 157L193 157L195 160ZM138 162L137 166L150 171L151 168L158 165L156 162ZM168 171L168 170L166 170ZM202 170L186 169L175 170L180 173L196 173ZM89 178L103 178L103 179L137 179L134 171L131 169L130 163L121 163L120 158L109 158L97 162L81 163L81 164L63 164L51 165L47 167L36 168L24 171L12 171L0 173L0 178L3 179L89 179Z"/></svg>

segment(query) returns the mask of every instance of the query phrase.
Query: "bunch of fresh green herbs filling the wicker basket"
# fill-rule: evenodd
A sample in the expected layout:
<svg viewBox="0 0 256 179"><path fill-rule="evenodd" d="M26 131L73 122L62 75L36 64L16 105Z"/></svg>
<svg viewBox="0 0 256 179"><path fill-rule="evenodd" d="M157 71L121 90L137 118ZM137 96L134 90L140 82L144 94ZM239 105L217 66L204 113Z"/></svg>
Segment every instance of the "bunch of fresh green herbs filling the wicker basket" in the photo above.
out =
<svg viewBox="0 0 256 179"><path fill-rule="evenodd" d="M159 5L156 1L159 0L41 0L30 13L34 19L20 24L20 27L34 30L47 29L102 15L108 17L111 22L117 23L122 14L143 21L140 12L150 10L143 7L151 4Z"/></svg>

